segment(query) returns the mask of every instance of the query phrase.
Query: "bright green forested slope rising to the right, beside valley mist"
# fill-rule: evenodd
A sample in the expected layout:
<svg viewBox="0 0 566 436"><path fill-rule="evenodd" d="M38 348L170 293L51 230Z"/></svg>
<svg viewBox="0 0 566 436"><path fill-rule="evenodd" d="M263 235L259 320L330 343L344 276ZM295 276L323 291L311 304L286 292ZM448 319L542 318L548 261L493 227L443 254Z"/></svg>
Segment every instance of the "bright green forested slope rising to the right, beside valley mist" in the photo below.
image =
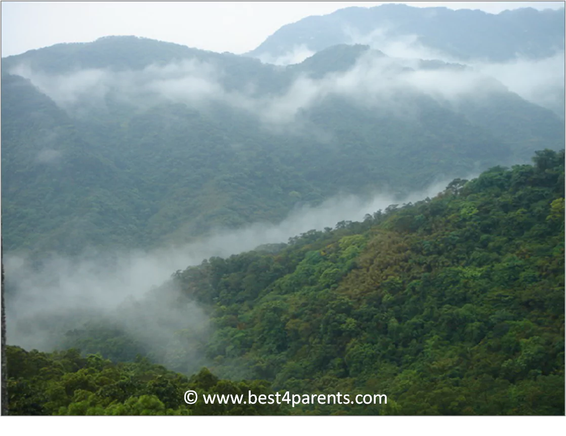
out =
<svg viewBox="0 0 566 436"><path fill-rule="evenodd" d="M564 153L543 151L179 280L218 307L219 374L379 390L404 414L563 414L563 205Z"/></svg>

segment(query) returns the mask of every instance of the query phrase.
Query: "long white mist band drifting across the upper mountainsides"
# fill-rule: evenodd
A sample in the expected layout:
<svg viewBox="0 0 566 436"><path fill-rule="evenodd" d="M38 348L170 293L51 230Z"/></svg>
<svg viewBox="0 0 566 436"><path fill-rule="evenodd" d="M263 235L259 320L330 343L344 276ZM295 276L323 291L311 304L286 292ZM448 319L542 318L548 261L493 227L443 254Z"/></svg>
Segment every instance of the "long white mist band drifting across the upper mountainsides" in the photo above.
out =
<svg viewBox="0 0 566 436"><path fill-rule="evenodd" d="M229 71L195 59L165 66L150 65L136 71L79 70L49 75L19 65L11 72L31 80L72 117L84 116L88 108L104 110L109 98L136 110L172 102L206 111L212 104L220 103L247 112L264 127L284 133L300 131L304 121L302 111L329 96L349 99L366 108L395 112L399 117L415 116L413 100L400 98L400 93L406 92L451 104L509 89L540 104L560 105L560 96L554 91L560 78L562 83L564 80L564 68L558 68L559 56L538 63L476 63L467 69L447 66L425 70L419 59L439 59L441 54L430 52L415 37L388 39L383 35L387 34L375 31L366 39L386 41L372 46L379 46L387 56L368 50L345 72L331 72L316 79L306 72L295 74L291 83L275 94L261 91L246 78L237 88L228 89L225 80ZM290 128L281 130L281 126Z"/></svg>

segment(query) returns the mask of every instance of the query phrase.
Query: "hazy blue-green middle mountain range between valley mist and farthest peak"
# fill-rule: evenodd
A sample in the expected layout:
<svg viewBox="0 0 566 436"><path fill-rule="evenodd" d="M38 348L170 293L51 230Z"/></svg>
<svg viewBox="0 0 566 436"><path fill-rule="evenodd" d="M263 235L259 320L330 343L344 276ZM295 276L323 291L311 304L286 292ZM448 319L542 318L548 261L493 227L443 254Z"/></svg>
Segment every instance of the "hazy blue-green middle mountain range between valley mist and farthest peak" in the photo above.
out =
<svg viewBox="0 0 566 436"><path fill-rule="evenodd" d="M368 45L281 67L106 37L2 70L4 248L40 256L183 243L338 194L402 200L564 146L563 119L498 80Z"/></svg>

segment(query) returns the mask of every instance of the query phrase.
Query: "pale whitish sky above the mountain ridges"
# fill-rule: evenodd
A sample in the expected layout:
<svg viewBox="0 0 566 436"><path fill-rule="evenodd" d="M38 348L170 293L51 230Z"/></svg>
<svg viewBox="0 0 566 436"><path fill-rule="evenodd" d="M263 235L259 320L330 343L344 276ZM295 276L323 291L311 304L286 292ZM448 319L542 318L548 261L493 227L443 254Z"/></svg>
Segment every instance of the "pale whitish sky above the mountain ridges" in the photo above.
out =
<svg viewBox="0 0 566 436"><path fill-rule="evenodd" d="M2 57L59 42L135 35L214 52L245 53L282 25L349 6L387 2L19 2L2 1ZM394 2L498 13L506 9L564 7L563 1Z"/></svg>

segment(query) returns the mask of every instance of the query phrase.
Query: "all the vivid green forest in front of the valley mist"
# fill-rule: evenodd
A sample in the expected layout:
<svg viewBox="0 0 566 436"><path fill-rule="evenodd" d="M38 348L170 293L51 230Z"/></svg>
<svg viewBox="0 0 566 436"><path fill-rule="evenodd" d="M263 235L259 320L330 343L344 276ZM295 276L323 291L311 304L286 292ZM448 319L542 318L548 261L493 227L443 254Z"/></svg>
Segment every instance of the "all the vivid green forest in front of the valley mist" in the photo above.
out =
<svg viewBox="0 0 566 436"><path fill-rule="evenodd" d="M136 357L143 343L91 322L66 345L98 356L9 347L10 413L564 414L563 151L363 222L204 260L171 283L211 317L207 340L189 347L180 331L163 353ZM195 362L210 372L189 371ZM388 402L187 406L188 388Z"/></svg>

